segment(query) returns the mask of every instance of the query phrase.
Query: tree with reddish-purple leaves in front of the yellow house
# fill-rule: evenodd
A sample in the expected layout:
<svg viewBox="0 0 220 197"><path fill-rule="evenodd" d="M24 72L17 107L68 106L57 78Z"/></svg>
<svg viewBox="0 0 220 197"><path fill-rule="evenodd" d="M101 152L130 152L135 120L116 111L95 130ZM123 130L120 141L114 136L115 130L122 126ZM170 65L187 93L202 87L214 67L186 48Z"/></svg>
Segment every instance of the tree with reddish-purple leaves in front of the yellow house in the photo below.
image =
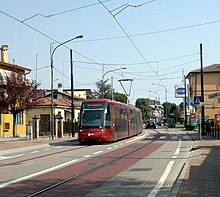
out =
<svg viewBox="0 0 220 197"><path fill-rule="evenodd" d="M13 137L16 136L16 116L42 102L44 91L38 90L39 83L25 75L11 72L0 77L0 111L13 115Z"/></svg>

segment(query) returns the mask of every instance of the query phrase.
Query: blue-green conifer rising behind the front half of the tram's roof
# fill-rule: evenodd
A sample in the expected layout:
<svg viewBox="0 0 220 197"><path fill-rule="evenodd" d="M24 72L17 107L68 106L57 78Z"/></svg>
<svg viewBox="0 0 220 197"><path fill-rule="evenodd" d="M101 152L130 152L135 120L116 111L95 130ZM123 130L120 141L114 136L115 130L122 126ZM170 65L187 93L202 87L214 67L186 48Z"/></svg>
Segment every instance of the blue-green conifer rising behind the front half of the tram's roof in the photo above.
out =
<svg viewBox="0 0 220 197"><path fill-rule="evenodd" d="M112 86L107 83L108 79L105 81L99 80L95 82L97 90L92 92L93 98L107 98L111 99L112 97Z"/></svg>

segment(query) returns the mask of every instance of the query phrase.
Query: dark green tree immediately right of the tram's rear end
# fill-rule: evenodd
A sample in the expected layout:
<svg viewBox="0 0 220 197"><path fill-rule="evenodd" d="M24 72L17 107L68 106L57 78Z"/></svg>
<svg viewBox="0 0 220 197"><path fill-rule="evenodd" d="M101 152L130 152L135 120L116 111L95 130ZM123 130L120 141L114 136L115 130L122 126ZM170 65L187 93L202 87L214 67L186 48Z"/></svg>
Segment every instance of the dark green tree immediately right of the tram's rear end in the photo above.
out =
<svg viewBox="0 0 220 197"><path fill-rule="evenodd" d="M150 117L149 102L148 98L138 98L135 102L135 107L141 110L144 121Z"/></svg>

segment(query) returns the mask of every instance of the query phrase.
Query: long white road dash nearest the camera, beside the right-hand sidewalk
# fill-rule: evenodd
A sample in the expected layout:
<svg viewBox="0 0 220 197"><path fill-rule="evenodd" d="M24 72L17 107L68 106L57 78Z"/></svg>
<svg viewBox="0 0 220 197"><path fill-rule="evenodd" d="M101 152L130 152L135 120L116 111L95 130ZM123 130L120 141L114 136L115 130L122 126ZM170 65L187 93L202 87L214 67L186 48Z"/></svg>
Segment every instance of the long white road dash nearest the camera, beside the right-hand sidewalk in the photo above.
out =
<svg viewBox="0 0 220 197"><path fill-rule="evenodd" d="M163 175L161 176L160 180L157 182L157 184L155 185L155 187L153 188L153 190L150 192L150 194L148 195L148 197L154 197L157 195L157 193L160 191L160 188L164 185L164 182L166 180L166 178L168 177L171 168L173 167L174 161L170 161L163 173Z"/></svg>

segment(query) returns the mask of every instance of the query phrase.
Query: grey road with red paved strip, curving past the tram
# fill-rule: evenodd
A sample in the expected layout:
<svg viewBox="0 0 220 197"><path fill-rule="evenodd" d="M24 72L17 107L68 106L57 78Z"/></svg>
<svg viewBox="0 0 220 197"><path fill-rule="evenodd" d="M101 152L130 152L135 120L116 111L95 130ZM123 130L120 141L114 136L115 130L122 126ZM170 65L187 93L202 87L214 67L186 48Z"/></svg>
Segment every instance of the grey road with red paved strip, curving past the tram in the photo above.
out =
<svg viewBox="0 0 220 197"><path fill-rule="evenodd" d="M178 129L156 131L116 143L70 142L1 155L0 196L34 196L48 186L40 196L175 196L193 141Z"/></svg>

